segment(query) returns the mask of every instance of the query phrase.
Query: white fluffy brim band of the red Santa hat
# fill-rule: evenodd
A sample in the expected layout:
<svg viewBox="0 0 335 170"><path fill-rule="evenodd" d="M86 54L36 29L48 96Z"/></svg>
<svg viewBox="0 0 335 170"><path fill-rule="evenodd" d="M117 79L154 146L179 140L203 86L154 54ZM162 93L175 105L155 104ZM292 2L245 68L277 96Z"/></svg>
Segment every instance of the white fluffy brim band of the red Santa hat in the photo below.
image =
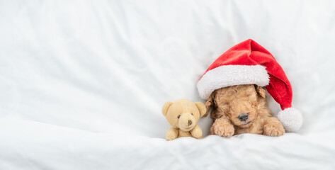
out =
<svg viewBox="0 0 335 170"><path fill-rule="evenodd" d="M262 65L224 65L206 72L198 81L200 97L207 99L216 89L226 86L256 84L268 85L266 67Z"/></svg>

